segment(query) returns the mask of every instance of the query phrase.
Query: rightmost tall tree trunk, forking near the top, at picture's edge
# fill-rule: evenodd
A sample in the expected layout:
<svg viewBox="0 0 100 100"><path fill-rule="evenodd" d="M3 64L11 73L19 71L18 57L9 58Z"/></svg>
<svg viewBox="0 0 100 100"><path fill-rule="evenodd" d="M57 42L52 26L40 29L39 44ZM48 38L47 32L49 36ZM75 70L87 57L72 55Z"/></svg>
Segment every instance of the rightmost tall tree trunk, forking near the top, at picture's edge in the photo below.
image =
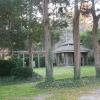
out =
<svg viewBox="0 0 100 100"><path fill-rule="evenodd" d="M97 34L98 21L99 21L100 15L96 16L94 0L92 0L92 16L93 16L92 35L93 35L93 48L94 48L96 77L100 77L100 49L99 49L98 34Z"/></svg>

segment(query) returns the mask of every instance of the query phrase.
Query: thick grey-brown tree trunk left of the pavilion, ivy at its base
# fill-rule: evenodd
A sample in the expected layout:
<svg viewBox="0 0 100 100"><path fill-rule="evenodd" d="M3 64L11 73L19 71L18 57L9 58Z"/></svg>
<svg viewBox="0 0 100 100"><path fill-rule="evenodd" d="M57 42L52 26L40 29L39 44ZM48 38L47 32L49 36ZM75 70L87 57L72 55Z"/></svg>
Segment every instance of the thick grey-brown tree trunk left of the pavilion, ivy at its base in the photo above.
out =
<svg viewBox="0 0 100 100"><path fill-rule="evenodd" d="M43 0L43 21L44 21L44 34L45 34L45 65L46 65L46 80L53 80L53 64L51 53L51 34L49 31L49 18L48 18L48 3L49 0Z"/></svg>

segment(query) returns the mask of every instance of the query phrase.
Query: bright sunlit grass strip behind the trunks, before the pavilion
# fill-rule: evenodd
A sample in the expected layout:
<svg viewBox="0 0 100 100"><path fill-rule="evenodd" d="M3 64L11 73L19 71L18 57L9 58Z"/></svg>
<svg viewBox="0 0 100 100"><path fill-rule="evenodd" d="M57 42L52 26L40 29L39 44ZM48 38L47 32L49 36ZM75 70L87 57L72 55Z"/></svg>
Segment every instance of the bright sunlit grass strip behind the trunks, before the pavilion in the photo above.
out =
<svg viewBox="0 0 100 100"><path fill-rule="evenodd" d="M41 76L45 77L44 68L35 68L34 71ZM54 67L53 69L54 79L64 79L64 78L73 78L73 67ZM95 68L84 66L81 67L81 77L85 76L95 76Z"/></svg>

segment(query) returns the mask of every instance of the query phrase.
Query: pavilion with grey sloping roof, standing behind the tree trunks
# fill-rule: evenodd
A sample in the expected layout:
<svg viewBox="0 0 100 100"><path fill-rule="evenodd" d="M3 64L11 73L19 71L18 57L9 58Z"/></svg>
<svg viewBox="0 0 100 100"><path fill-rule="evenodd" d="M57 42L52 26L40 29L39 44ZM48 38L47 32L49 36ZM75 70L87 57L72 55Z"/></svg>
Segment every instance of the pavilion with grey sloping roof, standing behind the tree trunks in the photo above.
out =
<svg viewBox="0 0 100 100"><path fill-rule="evenodd" d="M88 52L89 49L85 48L80 44L81 52L81 65L86 65L88 63ZM72 66L74 65L74 44L63 43L59 45L54 50L56 65L57 66Z"/></svg>

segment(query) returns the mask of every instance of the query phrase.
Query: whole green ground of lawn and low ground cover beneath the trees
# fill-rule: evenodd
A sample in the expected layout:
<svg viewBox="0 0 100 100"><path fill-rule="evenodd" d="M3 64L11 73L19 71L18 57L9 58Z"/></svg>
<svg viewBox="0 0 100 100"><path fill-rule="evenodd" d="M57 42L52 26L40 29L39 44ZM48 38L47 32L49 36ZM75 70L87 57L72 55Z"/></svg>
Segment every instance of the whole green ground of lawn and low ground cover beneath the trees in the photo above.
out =
<svg viewBox="0 0 100 100"><path fill-rule="evenodd" d="M0 100L35 100L45 96L45 100L78 100L77 97L86 91L100 88L100 79L95 78L94 67L82 67L80 80L73 80L73 68L55 67L53 82L44 82L45 68L34 71L43 78L0 79Z"/></svg>

